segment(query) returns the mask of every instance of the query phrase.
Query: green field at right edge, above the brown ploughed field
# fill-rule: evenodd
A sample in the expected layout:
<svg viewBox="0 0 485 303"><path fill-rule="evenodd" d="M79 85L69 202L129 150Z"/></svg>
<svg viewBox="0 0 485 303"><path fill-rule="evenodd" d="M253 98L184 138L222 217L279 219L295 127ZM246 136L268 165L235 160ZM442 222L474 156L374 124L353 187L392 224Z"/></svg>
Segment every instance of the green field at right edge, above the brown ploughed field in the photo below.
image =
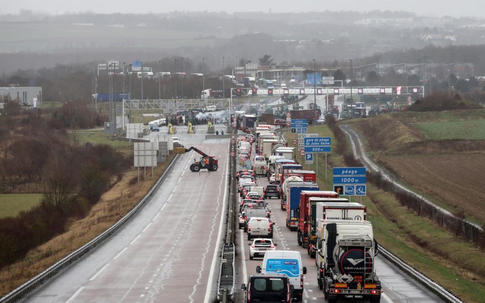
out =
<svg viewBox="0 0 485 303"><path fill-rule="evenodd" d="M415 124L430 140L485 140L485 119Z"/></svg>

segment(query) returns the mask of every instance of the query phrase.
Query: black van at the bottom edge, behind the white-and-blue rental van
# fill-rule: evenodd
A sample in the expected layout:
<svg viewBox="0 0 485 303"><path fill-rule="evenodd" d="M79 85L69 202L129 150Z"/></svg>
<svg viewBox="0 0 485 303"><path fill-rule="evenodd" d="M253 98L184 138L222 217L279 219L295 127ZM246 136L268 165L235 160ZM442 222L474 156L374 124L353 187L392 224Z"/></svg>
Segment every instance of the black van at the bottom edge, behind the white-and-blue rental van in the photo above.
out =
<svg viewBox="0 0 485 303"><path fill-rule="evenodd" d="M284 274L251 275L244 291L244 302L291 302L291 288L288 277Z"/></svg>

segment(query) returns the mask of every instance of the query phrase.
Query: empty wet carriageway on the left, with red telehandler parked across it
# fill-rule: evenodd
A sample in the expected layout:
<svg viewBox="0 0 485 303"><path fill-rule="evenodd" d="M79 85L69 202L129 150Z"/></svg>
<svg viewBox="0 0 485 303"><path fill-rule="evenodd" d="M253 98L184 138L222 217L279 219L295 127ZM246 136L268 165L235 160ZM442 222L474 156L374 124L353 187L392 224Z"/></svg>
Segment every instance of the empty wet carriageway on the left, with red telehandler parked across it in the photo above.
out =
<svg viewBox="0 0 485 303"><path fill-rule="evenodd" d="M189 163L200 155L181 155L135 218L26 301L212 301L226 230L229 140L205 135L200 128L175 136L219 158L217 171L191 172Z"/></svg>

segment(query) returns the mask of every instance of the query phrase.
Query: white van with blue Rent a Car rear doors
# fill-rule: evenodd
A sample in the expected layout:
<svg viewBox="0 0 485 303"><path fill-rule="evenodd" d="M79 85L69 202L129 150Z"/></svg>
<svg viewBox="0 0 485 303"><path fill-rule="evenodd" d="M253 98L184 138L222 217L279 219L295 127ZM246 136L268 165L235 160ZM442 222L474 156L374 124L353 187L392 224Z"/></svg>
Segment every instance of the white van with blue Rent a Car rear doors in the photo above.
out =
<svg viewBox="0 0 485 303"><path fill-rule="evenodd" d="M291 296L301 302L303 297L303 275L306 274L306 267L301 263L299 251L276 250L267 251L264 254L261 266L256 267L258 274L285 274L293 285Z"/></svg>

